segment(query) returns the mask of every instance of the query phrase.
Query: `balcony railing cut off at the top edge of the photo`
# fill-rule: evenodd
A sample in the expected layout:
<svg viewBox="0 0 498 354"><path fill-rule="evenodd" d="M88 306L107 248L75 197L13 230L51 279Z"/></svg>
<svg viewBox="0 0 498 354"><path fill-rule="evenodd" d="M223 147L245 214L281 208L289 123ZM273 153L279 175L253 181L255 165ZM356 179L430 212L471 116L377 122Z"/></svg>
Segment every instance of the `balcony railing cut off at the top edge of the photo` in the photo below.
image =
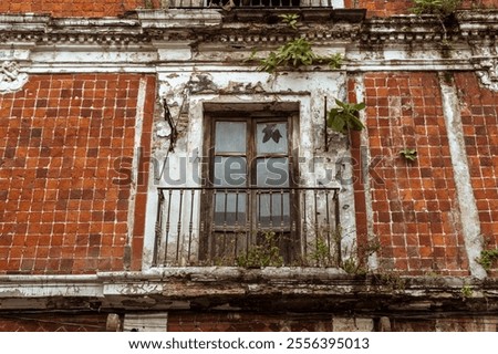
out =
<svg viewBox="0 0 498 354"><path fill-rule="evenodd" d="M331 8L334 0L169 0L169 8Z"/></svg>

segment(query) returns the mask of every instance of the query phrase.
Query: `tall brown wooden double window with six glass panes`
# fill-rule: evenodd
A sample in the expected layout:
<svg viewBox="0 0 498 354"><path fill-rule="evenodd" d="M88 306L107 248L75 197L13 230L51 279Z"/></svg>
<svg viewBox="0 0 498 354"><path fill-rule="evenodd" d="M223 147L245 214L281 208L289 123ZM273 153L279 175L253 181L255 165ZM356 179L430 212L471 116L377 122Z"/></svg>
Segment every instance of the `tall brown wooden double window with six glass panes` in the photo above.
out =
<svg viewBox="0 0 498 354"><path fill-rule="evenodd" d="M291 116L263 111L206 116L201 258L230 263L271 233L282 258L292 260L299 218Z"/></svg>

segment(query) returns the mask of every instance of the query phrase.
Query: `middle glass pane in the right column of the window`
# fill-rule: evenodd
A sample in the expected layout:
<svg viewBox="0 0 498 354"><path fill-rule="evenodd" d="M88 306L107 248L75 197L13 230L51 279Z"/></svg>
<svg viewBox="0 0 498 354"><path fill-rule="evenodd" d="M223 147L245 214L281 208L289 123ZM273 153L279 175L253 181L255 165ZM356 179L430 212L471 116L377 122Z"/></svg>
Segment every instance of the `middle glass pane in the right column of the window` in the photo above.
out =
<svg viewBox="0 0 498 354"><path fill-rule="evenodd" d="M258 187L289 187L289 158L258 158L256 169Z"/></svg>

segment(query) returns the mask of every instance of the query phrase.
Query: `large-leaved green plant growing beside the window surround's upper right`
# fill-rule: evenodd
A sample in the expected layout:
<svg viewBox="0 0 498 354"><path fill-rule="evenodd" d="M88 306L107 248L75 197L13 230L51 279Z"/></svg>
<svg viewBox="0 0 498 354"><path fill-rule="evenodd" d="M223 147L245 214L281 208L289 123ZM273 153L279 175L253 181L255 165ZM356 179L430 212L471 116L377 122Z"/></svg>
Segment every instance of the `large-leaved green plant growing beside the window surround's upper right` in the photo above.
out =
<svg viewBox="0 0 498 354"><path fill-rule="evenodd" d="M328 112L326 124L330 128L342 134L365 128L357 117L357 113L365 108L365 103L346 103L335 100L335 104L338 107Z"/></svg>

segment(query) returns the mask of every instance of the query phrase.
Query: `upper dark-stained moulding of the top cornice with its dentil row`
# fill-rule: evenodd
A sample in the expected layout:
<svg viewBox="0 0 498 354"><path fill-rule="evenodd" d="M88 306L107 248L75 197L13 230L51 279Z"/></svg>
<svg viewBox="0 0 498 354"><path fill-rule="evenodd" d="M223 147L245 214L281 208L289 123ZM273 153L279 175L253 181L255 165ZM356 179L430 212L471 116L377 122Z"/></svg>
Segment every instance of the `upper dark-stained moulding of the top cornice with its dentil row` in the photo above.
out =
<svg viewBox="0 0 498 354"><path fill-rule="evenodd" d="M320 11L320 10L313 10ZM428 43L445 40L484 41L498 37L498 11L459 12L455 21L446 24L434 15L395 15L362 20L361 13L347 17L345 10L322 10L326 21L307 21L298 34L310 40L350 40L371 44ZM351 12L351 11L350 11ZM257 12L251 12L257 13ZM446 31L446 33L445 33ZM181 33L181 34L180 34ZM188 34L187 34L188 33ZM208 34L206 38L205 34ZM210 33L210 34L209 34ZM0 42L35 41L41 43L138 43L149 37L165 39L201 37L220 42L279 42L295 32L286 25L253 19L248 22L225 21L219 10L197 9L167 11L139 10L127 19L51 19L46 15L0 15ZM446 39L445 39L446 38Z"/></svg>

